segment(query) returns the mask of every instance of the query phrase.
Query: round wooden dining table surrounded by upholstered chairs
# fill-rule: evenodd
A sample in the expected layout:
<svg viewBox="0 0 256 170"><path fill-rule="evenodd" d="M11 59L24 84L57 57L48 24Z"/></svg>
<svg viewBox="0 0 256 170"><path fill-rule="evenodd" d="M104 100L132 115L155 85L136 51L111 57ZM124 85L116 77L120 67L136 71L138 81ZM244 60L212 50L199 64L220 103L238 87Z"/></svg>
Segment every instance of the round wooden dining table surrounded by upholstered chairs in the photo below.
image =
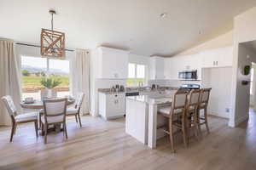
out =
<svg viewBox="0 0 256 170"><path fill-rule="evenodd" d="M55 99L60 99L60 98L55 98ZM75 99L69 98L67 99L67 105L73 105L75 102ZM38 111L38 121L39 121L39 129L41 128L41 116L44 114L44 102L42 100L34 100L33 102L26 103L25 100L20 102L20 106L23 109L29 109L29 110L39 110ZM49 127L47 132L61 132L61 124L60 125L55 125L53 127ZM41 129L41 135L44 135L44 132Z"/></svg>

